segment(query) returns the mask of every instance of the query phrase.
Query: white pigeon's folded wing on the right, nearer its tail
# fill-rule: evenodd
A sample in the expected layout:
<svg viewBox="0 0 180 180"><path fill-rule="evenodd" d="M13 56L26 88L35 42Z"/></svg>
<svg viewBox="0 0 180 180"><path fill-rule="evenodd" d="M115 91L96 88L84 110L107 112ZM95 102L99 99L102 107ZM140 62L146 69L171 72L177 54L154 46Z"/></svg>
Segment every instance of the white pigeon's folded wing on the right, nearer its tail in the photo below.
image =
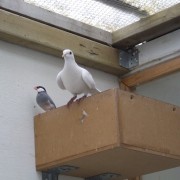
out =
<svg viewBox="0 0 180 180"><path fill-rule="evenodd" d="M82 79L89 87L89 89L96 89L92 75L86 69L83 68L82 68Z"/></svg>

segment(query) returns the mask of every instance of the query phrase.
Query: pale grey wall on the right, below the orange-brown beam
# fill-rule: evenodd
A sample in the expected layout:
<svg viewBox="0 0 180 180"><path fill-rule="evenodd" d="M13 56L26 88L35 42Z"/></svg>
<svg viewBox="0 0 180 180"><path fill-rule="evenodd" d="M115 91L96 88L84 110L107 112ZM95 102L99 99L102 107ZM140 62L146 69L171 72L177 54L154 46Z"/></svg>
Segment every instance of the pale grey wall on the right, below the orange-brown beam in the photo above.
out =
<svg viewBox="0 0 180 180"><path fill-rule="evenodd" d="M180 106L180 72L136 88L136 93ZM179 180L180 167L143 176L143 180Z"/></svg>

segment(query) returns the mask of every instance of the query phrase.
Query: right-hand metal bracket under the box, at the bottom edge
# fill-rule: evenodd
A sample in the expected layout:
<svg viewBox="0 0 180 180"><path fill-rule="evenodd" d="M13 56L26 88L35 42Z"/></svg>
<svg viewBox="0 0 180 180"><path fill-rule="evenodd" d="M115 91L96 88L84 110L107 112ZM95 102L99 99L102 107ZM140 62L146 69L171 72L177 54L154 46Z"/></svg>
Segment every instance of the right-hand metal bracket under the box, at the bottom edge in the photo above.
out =
<svg viewBox="0 0 180 180"><path fill-rule="evenodd" d="M121 176L121 175L116 174L116 173L103 173L103 174L99 174L96 176L87 177L87 178L85 178L85 180L110 180L110 179L116 178L118 176Z"/></svg>

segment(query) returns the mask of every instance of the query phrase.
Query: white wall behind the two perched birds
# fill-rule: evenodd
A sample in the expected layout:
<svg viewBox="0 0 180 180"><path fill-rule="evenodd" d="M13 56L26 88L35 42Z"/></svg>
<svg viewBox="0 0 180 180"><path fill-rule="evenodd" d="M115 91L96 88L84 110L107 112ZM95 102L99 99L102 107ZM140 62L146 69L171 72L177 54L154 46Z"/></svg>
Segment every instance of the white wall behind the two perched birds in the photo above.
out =
<svg viewBox="0 0 180 180"><path fill-rule="evenodd" d="M66 104L71 94L55 81L62 67L59 58L0 41L0 180L41 179L35 169L33 117L42 111L33 87L45 86L57 106ZM115 76L89 70L99 89L118 87Z"/></svg>

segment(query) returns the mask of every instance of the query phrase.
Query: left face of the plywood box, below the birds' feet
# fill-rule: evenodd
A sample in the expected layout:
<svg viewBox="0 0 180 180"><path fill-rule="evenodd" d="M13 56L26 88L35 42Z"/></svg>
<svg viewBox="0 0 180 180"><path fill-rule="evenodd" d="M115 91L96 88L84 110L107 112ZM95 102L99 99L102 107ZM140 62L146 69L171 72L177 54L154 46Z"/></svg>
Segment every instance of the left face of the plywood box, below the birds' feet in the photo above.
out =
<svg viewBox="0 0 180 180"><path fill-rule="evenodd" d="M70 108L63 106L36 116L37 166L117 146L116 102L115 90L106 91Z"/></svg>

